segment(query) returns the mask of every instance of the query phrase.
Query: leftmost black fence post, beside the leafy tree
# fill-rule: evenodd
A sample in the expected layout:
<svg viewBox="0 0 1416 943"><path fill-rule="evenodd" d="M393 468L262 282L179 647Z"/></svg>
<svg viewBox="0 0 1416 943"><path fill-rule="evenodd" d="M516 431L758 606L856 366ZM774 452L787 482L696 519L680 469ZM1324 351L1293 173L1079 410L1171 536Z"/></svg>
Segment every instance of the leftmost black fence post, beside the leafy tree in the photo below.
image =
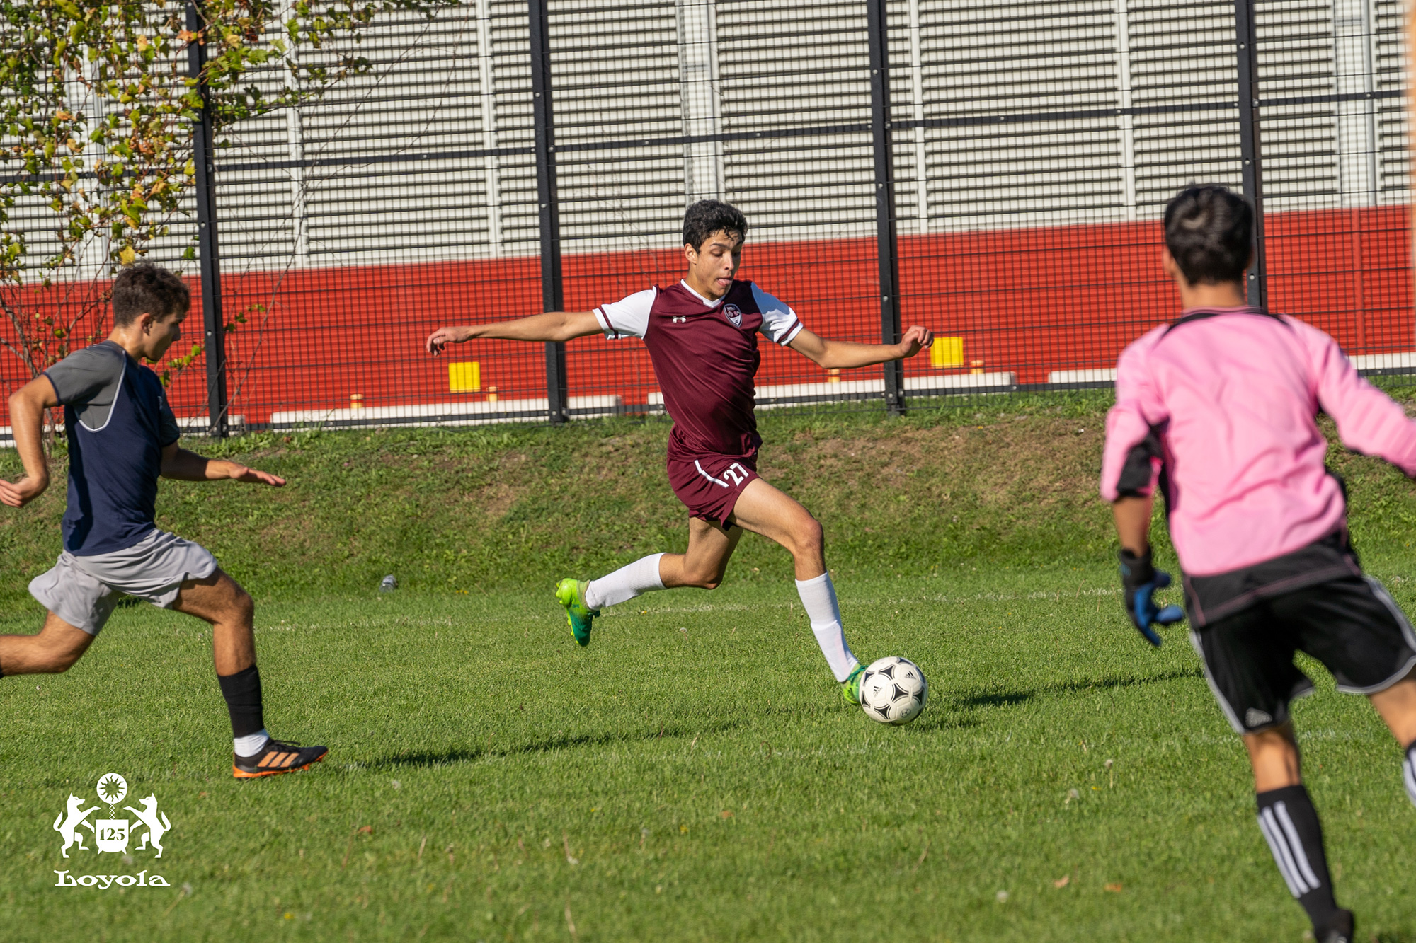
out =
<svg viewBox="0 0 1416 943"><path fill-rule="evenodd" d="M202 350L207 354L207 433L227 438L227 330L221 313L221 249L217 245L217 171L211 143L211 106L202 69L207 65L207 23L197 3L187 3L187 31L195 33L187 45L187 72L197 79L201 110L193 127L193 164L197 168L197 255L201 266Z"/></svg>

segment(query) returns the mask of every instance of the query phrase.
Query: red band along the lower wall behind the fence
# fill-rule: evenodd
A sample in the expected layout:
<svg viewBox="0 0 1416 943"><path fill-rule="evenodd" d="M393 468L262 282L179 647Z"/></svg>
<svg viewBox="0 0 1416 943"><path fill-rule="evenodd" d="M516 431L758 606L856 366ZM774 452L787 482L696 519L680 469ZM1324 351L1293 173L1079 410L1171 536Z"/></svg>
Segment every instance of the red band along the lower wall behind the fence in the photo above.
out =
<svg viewBox="0 0 1416 943"><path fill-rule="evenodd" d="M1406 207L1270 214L1270 307L1331 333L1351 354L1416 350L1406 225ZM1160 244L1158 222L906 236L903 320L963 337L966 361L1014 371L1020 382L1045 382L1055 370L1113 367L1127 343L1177 313L1174 286L1160 272ZM683 270L677 251L568 255L566 307L613 302L677 280ZM874 241L749 242L741 276L790 303L823 336L879 337ZM477 401L489 387L501 399L545 395L539 345L483 341L442 358L422 351L438 326L538 312L535 258L227 272L222 283L228 317L249 306L265 309L251 310L228 338L232 412L248 421L283 409L348 406L354 394L367 406ZM200 283L193 289L200 292ZM25 292L25 303L41 314L52 313L55 300L57 290ZM198 337L200 304L188 324L188 336ZM8 324L0 336L16 340ZM762 385L826 379L792 351L762 348ZM176 350L185 351L187 343ZM25 374L13 354L0 353L0 379L13 389ZM483 391L452 394L449 361L477 361ZM657 388L634 340L573 341L568 365L572 396L615 394L643 404ZM906 372L935 371L920 354ZM967 365L947 372L967 372ZM174 384L178 413L200 412L202 377L198 361Z"/></svg>

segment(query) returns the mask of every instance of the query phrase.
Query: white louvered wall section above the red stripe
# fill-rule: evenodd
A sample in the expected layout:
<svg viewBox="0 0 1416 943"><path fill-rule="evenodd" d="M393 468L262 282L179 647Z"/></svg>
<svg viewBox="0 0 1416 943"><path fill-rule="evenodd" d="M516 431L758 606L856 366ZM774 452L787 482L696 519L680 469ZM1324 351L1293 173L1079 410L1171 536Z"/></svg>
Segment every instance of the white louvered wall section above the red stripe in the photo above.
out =
<svg viewBox="0 0 1416 943"><path fill-rule="evenodd" d="M1368 40L1342 38L1354 16L1375 31L1371 79L1351 65ZM902 235L1153 219L1191 180L1239 184L1232 108L1107 113L1232 102L1229 1L891 0L889 24L892 119L932 123L896 132ZM1263 98L1403 88L1400 24L1398 0L1260 0ZM684 204L715 194L758 239L871 235L864 27L861 3L835 0L551 0L564 252L674 246ZM527 44L513 0L385 16L358 47L368 74L232 129L227 269L535 255L532 156L466 156L530 149ZM991 120L1056 112L1093 115ZM767 133L834 126L857 130ZM738 137L643 144L715 132ZM1266 108L1262 139L1270 212L1410 198L1400 98ZM54 221L21 201L13 225L42 253ZM180 265L190 236L176 221L150 258Z"/></svg>

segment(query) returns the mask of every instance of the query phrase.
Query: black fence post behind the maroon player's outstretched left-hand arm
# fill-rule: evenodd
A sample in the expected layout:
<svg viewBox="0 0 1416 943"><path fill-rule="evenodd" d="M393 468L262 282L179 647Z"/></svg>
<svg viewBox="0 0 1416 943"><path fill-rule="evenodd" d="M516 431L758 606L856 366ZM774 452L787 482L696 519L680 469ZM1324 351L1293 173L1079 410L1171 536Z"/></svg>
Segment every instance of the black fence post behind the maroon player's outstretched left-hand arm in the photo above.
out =
<svg viewBox="0 0 1416 943"><path fill-rule="evenodd" d="M551 112L551 28L547 0L530 0L531 20L531 110L535 119L535 190L541 208L541 306L559 312L561 295L561 211L555 195L555 119ZM551 425L569 418L565 382L565 343L545 345L545 395Z"/></svg>

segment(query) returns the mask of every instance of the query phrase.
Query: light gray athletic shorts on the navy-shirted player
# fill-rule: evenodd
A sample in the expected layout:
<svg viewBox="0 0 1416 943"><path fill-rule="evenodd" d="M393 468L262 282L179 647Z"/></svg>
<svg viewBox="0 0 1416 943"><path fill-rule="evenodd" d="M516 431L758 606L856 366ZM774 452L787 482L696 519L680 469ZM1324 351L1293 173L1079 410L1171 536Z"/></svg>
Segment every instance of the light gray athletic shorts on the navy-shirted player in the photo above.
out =
<svg viewBox="0 0 1416 943"><path fill-rule="evenodd" d="M217 558L201 544L154 530L112 554L75 556L64 551L54 569L30 581L30 595L55 616L96 636L123 596L171 609L188 579L217 572Z"/></svg>

